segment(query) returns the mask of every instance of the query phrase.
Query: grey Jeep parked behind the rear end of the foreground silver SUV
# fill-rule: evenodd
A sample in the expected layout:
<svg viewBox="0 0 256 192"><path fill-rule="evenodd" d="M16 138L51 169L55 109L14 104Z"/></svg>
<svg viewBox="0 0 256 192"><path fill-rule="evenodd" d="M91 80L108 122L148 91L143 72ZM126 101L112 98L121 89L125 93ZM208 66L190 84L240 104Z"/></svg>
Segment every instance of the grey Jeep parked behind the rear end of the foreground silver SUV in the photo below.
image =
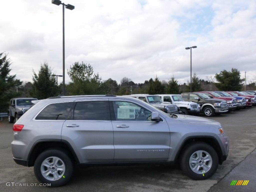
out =
<svg viewBox="0 0 256 192"><path fill-rule="evenodd" d="M10 99L8 113L9 123L16 122L31 106L34 105L32 101L36 98L13 98Z"/></svg>

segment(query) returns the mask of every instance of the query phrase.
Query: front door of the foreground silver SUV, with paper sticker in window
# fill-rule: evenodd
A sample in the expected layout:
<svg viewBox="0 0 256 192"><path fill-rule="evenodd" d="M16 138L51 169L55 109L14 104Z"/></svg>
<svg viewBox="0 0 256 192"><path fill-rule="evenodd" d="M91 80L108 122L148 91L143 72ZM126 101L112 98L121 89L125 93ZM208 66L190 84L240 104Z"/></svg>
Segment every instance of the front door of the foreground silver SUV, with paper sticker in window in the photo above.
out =
<svg viewBox="0 0 256 192"><path fill-rule="evenodd" d="M135 101L112 100L114 162L166 161L170 149L167 123L151 121L152 110Z"/></svg>

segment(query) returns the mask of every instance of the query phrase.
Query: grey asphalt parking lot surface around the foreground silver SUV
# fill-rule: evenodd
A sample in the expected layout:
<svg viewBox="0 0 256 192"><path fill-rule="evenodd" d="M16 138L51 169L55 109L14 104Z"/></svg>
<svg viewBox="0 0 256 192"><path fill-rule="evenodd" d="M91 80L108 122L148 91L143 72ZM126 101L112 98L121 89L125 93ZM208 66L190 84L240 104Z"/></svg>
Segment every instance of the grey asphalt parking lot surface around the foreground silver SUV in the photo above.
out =
<svg viewBox="0 0 256 192"><path fill-rule="evenodd" d="M0 121L0 191L255 191L255 113L256 107L208 118L222 124L230 142L227 161L210 179L192 180L167 165L90 167L77 168L71 181L58 188L39 186L33 167L13 161L13 124ZM231 186L233 180L249 182Z"/></svg>

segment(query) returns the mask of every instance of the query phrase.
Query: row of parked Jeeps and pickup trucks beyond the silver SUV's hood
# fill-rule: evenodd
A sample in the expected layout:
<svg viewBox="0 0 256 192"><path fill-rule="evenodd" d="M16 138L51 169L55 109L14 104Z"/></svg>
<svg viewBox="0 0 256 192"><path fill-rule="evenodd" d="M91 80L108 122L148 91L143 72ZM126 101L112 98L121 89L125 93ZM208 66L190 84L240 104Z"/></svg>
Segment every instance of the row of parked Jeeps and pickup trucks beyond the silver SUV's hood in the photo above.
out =
<svg viewBox="0 0 256 192"><path fill-rule="evenodd" d="M198 115L202 112L205 116L214 116L256 105L256 91L201 91L180 95L133 94L124 96L145 101L166 113L184 115Z"/></svg>

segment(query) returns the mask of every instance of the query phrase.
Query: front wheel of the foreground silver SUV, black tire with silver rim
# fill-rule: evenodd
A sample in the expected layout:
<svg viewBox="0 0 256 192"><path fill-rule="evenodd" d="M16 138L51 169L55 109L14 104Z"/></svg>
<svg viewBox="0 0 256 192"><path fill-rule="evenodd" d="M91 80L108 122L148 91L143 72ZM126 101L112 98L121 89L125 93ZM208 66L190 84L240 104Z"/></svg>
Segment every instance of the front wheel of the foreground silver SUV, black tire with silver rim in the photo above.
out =
<svg viewBox="0 0 256 192"><path fill-rule="evenodd" d="M218 155L214 148L206 143L190 143L182 154L180 167L191 179L208 179L218 168Z"/></svg>

